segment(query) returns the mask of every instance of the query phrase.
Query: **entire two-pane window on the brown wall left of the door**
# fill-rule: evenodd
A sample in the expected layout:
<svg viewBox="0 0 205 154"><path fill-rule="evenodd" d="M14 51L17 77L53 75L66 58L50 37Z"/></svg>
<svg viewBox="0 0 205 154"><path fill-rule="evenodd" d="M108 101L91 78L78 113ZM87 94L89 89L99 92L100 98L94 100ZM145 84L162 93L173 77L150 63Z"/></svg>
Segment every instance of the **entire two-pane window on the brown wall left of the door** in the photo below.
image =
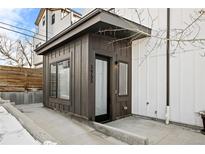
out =
<svg viewBox="0 0 205 154"><path fill-rule="evenodd" d="M61 61L50 65L50 96L70 99L70 62Z"/></svg>

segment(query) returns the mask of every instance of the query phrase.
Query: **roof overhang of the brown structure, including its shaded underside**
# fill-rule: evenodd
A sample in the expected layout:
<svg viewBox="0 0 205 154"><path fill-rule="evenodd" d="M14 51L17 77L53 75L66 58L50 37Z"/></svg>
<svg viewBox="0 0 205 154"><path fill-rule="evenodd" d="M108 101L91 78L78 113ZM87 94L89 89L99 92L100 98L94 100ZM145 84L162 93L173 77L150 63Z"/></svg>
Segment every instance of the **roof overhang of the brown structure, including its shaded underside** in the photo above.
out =
<svg viewBox="0 0 205 154"><path fill-rule="evenodd" d="M76 23L66 28L46 43L38 47L35 52L39 55L44 54L55 46L88 32L103 32L113 29L115 37L121 38L143 38L151 34L151 29L116 14L102 9L95 9Z"/></svg>

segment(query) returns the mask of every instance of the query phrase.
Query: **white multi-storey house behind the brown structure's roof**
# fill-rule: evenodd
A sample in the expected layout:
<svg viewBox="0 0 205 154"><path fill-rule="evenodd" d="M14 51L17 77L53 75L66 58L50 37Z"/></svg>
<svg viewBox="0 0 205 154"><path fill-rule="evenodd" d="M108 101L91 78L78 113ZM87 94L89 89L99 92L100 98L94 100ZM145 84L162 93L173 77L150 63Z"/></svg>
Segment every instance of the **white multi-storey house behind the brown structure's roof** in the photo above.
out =
<svg viewBox="0 0 205 154"><path fill-rule="evenodd" d="M34 36L34 49L75 23L81 14L69 8L42 8L35 21L37 33ZM42 67L43 58L34 53L34 66Z"/></svg>

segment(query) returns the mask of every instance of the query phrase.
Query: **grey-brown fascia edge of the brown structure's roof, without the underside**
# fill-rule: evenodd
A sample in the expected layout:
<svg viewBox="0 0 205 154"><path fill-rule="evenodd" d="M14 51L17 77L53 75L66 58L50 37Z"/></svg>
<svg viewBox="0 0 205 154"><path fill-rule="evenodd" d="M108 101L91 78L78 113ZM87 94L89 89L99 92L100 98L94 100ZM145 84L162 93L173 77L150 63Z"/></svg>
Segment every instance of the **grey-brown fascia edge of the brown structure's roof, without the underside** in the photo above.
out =
<svg viewBox="0 0 205 154"><path fill-rule="evenodd" d="M42 55L44 52L46 52L50 48L53 48L57 45L56 43L54 43L55 41L59 40L61 37L64 37L63 39L61 39L61 42L58 41L58 44L59 44L59 43L64 42L66 39L71 38L72 35L69 36L69 35L67 35L68 33L72 33L72 31L74 31L76 28L85 24L86 22L88 22L89 20L91 20L92 18L94 18L95 16L97 16L99 14L100 14L99 21L98 20L92 21L93 23L89 23L89 26L92 26L95 23L102 21L102 22L105 22L107 24L114 25L114 26L120 25L122 28L127 29L127 30L132 31L132 32L135 32L134 29L137 28L136 30L142 31L142 33L144 33L145 37L146 37L146 34L151 34L151 29L146 27L146 26L137 24L137 23L130 21L124 17L121 17L119 15L110 13L110 12L102 10L102 9L95 9L95 10L91 11L89 14L87 14L86 16L84 16L83 18L81 18L79 21L77 21L76 23L71 25L70 27L66 28L65 30L63 30L62 32L60 32L59 34L57 34L56 36L54 36L53 38L51 38L50 40L48 40L47 42L42 44L40 47L38 47L34 51L37 54ZM126 23L126 22L128 22L128 23ZM84 27L86 29L86 26L84 26ZM85 29L81 28L81 31L83 31ZM78 30L78 33L81 31ZM139 31L136 31L136 32L139 32ZM73 32L73 36L77 35L78 33ZM67 35L68 38L65 38L65 35ZM47 46L50 46L50 47L47 47Z"/></svg>

